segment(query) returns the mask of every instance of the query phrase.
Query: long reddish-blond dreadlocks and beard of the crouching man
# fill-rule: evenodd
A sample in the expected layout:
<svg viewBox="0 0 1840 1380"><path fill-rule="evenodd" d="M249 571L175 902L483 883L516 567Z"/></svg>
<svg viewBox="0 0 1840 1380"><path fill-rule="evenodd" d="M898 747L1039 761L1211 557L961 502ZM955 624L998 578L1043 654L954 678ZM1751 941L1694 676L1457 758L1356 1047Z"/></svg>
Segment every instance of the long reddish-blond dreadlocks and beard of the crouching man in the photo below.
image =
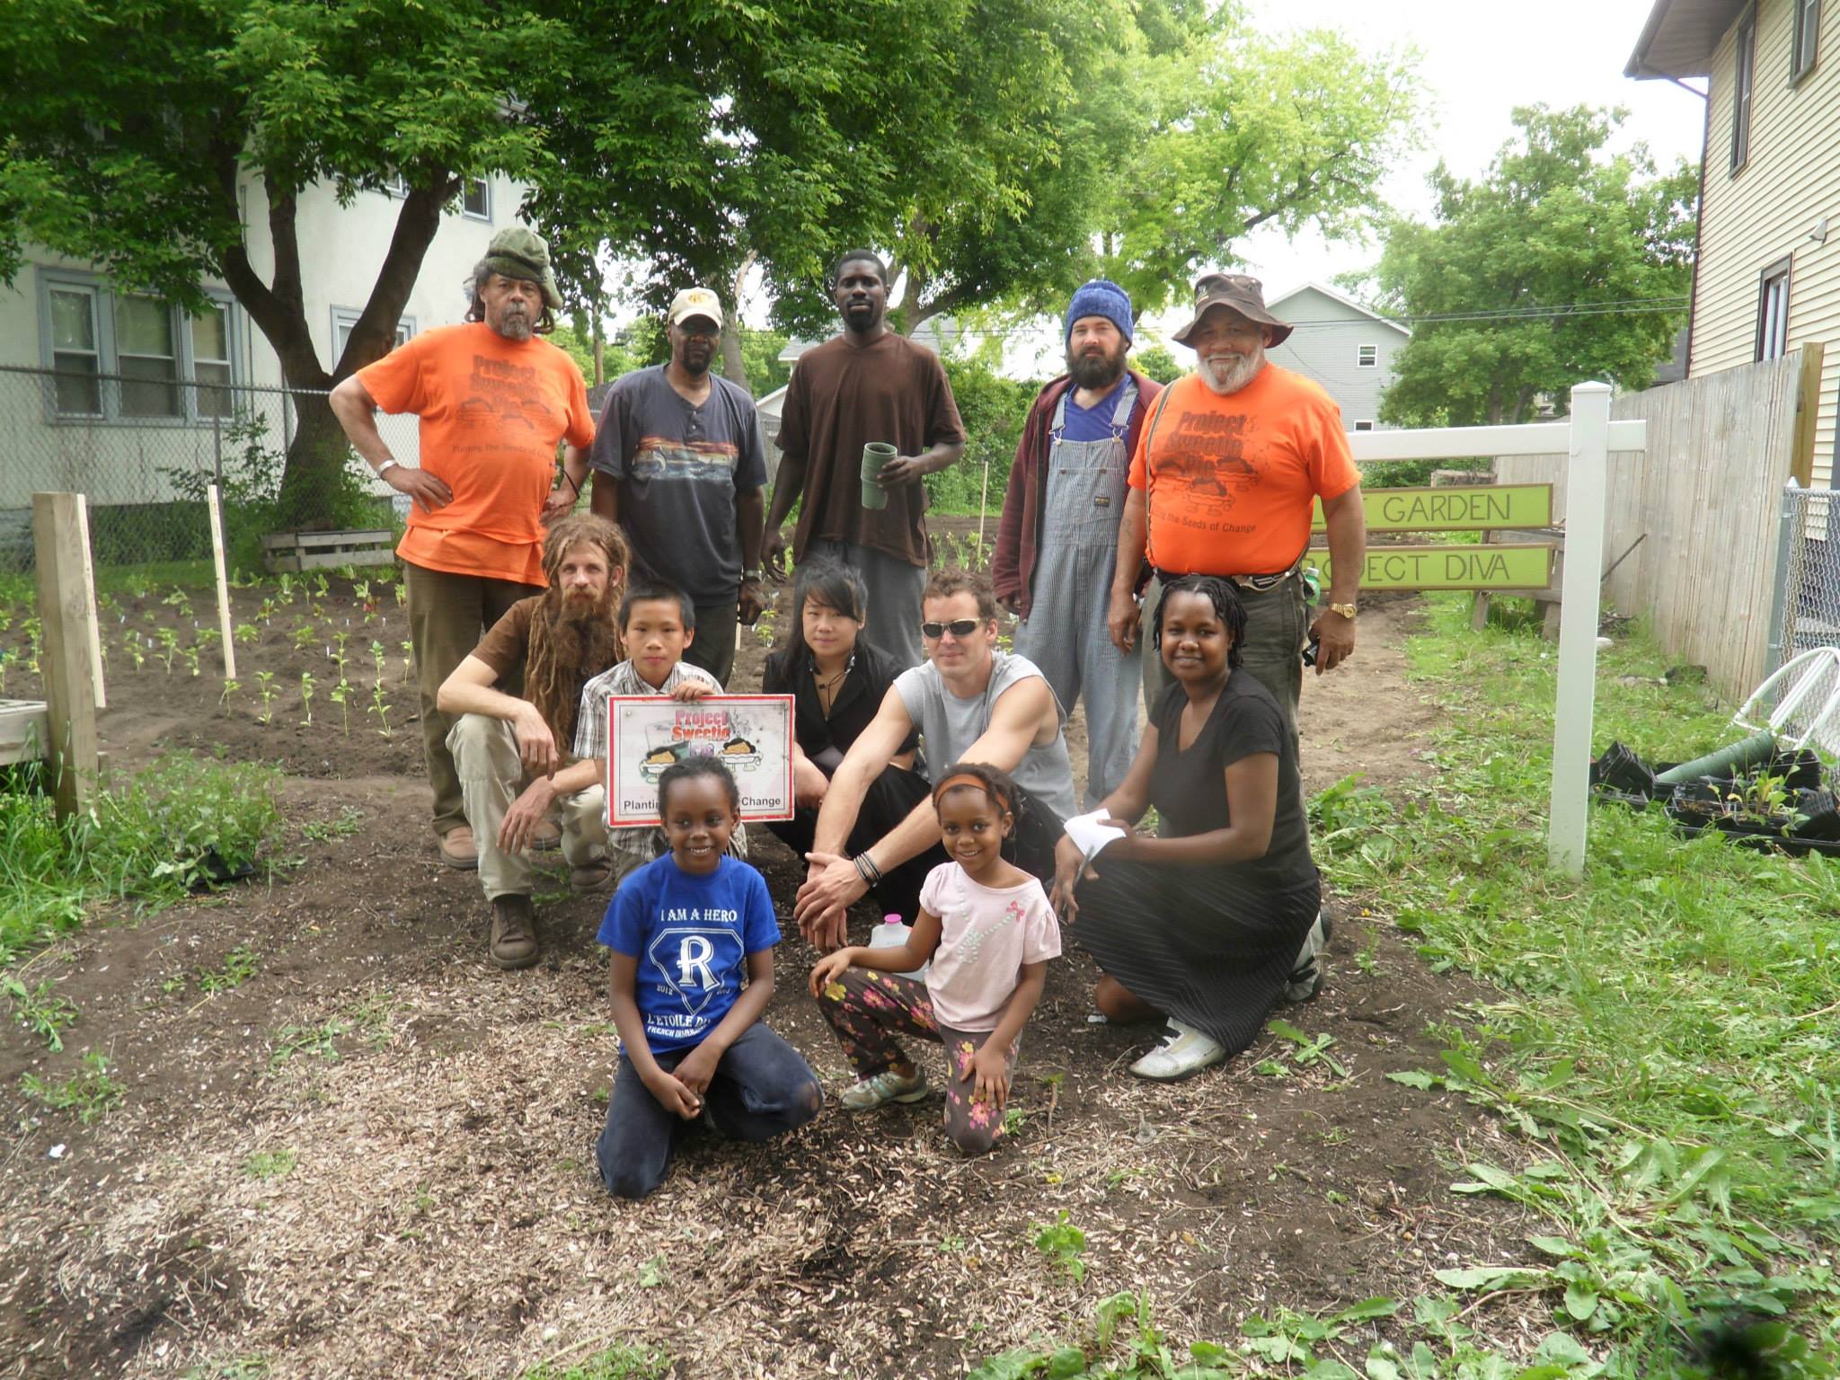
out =
<svg viewBox="0 0 1840 1380"><path fill-rule="evenodd" d="M607 558L607 592L585 620L563 616L563 558L576 546L596 546ZM543 602L530 618L530 646L524 653L524 699L556 734L563 753L574 742L581 681L600 675L620 661L620 626L615 609L626 589L629 561L620 528L594 513L572 513L556 523L543 539L543 574L550 581Z"/></svg>

